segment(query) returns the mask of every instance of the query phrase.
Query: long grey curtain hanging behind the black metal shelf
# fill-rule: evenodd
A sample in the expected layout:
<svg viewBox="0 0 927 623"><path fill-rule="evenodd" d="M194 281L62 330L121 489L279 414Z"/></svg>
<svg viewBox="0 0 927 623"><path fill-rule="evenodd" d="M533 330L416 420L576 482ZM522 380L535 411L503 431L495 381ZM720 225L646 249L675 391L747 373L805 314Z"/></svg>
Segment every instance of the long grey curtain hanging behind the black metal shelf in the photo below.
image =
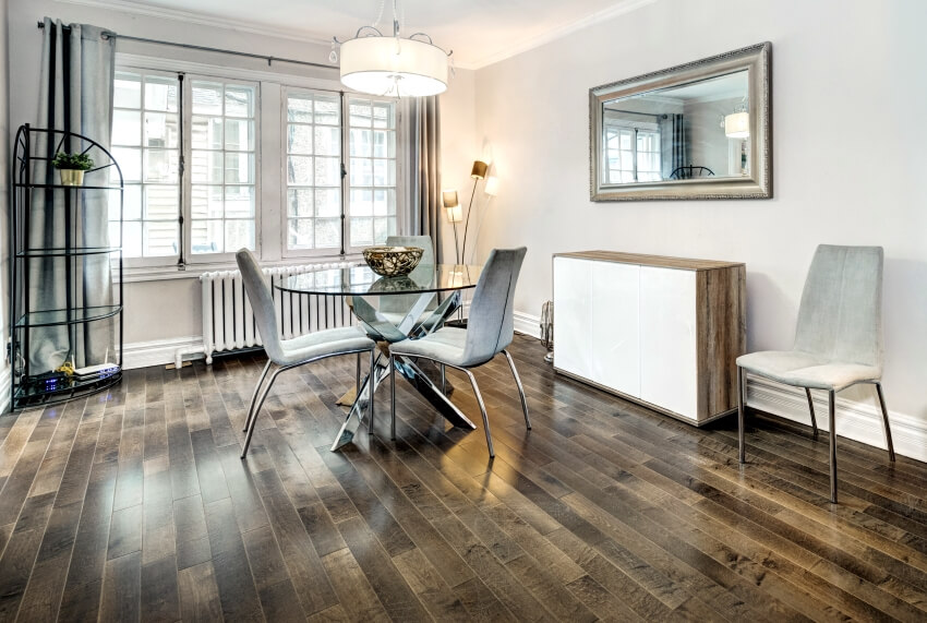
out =
<svg viewBox="0 0 927 623"><path fill-rule="evenodd" d="M112 88L115 38L103 38L103 29L86 24L62 24L45 19L39 86L38 128L82 134L110 146L112 124ZM84 152L91 145L77 139L64 140L62 134L36 133L34 154L51 157L57 151ZM88 155L97 165L109 161L98 148ZM45 160L36 159L33 179L43 183L59 183L57 171ZM110 183L111 169L88 172L85 185ZM118 181L118 176L112 181ZM108 219L112 196L107 190L45 189L32 194L29 205L28 242L32 248L67 249L75 247L109 247ZM71 227L65 227L65 224ZM68 262L71 279L67 278ZM88 309L97 315L101 305L111 305L112 275L108 254L68 257L47 257L32 261L29 271L29 308L32 310ZM96 308L96 309L92 309ZM80 315L81 312L79 312ZM57 315L63 315L59 312ZM64 361L76 367L113 360L115 321L92 322L86 325L35 327L29 334L31 373L53 370Z"/></svg>

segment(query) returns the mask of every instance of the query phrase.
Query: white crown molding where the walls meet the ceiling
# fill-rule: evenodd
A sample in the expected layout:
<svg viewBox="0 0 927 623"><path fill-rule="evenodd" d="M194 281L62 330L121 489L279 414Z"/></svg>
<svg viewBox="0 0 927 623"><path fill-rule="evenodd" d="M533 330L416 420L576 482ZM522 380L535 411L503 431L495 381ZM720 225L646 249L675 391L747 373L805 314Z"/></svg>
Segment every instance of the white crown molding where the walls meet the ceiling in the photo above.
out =
<svg viewBox="0 0 927 623"><path fill-rule="evenodd" d="M219 17L216 15L208 15L205 13L196 13L194 11L183 11L180 9L167 9L164 7L152 7L151 4L144 4L142 2L135 2L134 0L57 0L63 4L77 4L81 7L93 7L98 9L106 9L108 11L120 11L122 13L128 13L131 15L144 15L147 17L159 17L162 20L173 20L180 22L186 22L189 24L198 24L202 26L213 26L219 28L232 29L241 33L251 33L253 35L262 35L265 37L275 37L282 39L290 39L294 41L300 41L303 44L314 44L320 46L327 46L330 43L330 39L320 39L317 35L311 35L303 31L299 31L296 28L286 28L279 26L261 26L255 25L252 22L246 22L243 20L232 20L228 17ZM566 37L577 31L581 31L587 28L593 24L599 22L604 22L607 20L612 20L617 17L618 15L623 15L625 13L629 13L631 11L636 11L642 7L648 4L652 4L657 2L657 0L619 0L614 5L604 9L602 11L598 11L588 15L581 20L576 22L571 22L569 24L565 24L563 26L557 26L555 28L545 31L540 35L534 35L519 41L515 41L511 46L505 49L505 51L497 52L494 55L489 55L482 57L481 59L473 62L458 62L456 67L462 70L478 70L483 69L484 67L497 63L505 59L511 58L514 56L520 55L528 50L541 47L545 44L554 41L556 39Z"/></svg>

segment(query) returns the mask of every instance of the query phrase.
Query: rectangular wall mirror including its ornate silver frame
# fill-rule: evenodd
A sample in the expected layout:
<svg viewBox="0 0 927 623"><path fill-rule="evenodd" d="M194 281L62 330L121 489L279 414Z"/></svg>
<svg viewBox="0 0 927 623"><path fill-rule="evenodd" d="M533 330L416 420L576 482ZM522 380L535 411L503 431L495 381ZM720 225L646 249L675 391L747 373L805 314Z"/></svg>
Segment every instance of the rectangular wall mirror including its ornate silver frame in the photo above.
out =
<svg viewBox="0 0 927 623"><path fill-rule="evenodd" d="M771 197L771 49L589 89L592 201Z"/></svg>

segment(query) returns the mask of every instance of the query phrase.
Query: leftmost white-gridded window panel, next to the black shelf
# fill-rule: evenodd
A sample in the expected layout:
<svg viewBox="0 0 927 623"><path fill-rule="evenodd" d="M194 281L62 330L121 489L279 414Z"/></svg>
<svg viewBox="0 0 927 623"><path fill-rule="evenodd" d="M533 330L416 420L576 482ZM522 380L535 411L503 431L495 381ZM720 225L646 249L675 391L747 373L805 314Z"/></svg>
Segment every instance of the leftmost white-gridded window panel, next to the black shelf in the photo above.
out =
<svg viewBox="0 0 927 623"><path fill-rule="evenodd" d="M127 257L177 255L180 185L177 76L117 72L112 156L122 169ZM118 173L112 169L113 181ZM110 223L118 240L119 223Z"/></svg>

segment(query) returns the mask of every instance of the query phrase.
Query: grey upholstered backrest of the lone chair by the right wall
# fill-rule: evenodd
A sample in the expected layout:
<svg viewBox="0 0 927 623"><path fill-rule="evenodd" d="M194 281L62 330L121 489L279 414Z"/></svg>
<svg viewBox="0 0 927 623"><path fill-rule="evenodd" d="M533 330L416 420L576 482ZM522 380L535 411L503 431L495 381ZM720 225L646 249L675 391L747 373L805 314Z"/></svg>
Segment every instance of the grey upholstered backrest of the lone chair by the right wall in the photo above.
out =
<svg viewBox="0 0 927 623"><path fill-rule="evenodd" d="M795 350L881 368L883 263L881 247L819 245L802 293Z"/></svg>

